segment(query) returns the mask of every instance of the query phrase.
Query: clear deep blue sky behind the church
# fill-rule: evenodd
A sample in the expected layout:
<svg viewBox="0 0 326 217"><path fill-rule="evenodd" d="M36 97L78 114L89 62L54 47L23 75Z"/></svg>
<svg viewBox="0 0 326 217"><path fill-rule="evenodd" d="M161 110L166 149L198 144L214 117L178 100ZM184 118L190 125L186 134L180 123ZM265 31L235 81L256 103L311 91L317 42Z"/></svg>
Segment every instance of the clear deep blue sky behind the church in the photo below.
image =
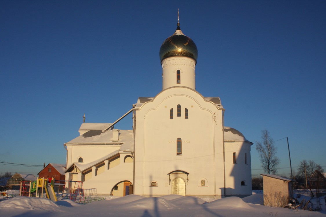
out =
<svg viewBox="0 0 326 217"><path fill-rule="evenodd" d="M180 27L198 47L196 90L254 142L289 138L292 166L326 170L326 1L0 1L0 160L66 162L86 122L112 123L162 88L159 48ZM128 115L115 128L131 129ZM275 142L289 173L286 139ZM252 174L259 174L252 145ZM9 166L1 172L38 173Z"/></svg>

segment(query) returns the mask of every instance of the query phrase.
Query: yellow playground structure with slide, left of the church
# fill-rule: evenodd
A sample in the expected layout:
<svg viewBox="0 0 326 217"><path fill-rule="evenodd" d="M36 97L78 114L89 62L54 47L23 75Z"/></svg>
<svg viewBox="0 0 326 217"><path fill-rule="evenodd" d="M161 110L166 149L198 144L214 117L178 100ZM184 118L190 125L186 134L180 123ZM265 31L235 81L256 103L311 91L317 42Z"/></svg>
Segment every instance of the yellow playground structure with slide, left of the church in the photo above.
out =
<svg viewBox="0 0 326 217"><path fill-rule="evenodd" d="M20 186L20 196L27 197L43 197L44 192L46 198L52 201L58 201L54 189L54 178L44 179L37 178L36 181L22 181Z"/></svg>

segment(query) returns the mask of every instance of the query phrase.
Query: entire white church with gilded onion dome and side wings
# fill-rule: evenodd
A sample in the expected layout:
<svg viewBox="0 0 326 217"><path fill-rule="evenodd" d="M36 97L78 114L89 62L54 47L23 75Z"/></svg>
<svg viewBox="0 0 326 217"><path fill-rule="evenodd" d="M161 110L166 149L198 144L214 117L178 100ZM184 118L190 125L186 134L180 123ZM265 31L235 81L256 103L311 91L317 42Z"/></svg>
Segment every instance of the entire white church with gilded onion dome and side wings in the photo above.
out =
<svg viewBox="0 0 326 217"><path fill-rule="evenodd" d="M159 54L162 91L140 97L113 123L83 123L64 144L66 180L82 181L86 195L251 195L253 143L224 126L219 97L195 90L198 51L179 22ZM129 113L133 129L114 129Z"/></svg>

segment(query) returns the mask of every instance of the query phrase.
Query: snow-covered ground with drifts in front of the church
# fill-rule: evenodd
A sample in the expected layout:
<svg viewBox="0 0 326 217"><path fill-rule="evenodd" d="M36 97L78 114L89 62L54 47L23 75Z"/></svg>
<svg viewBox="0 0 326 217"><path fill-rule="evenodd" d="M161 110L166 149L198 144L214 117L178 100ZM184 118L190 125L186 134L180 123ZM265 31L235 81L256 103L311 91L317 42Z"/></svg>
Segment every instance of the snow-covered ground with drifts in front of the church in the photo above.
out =
<svg viewBox="0 0 326 217"><path fill-rule="evenodd" d="M10 194L17 192L8 191ZM290 210L262 206L262 192L243 199L226 197L218 200L201 199L198 197L183 197L167 195L163 197L141 197L129 195L126 197L110 198L95 201L85 205L71 200L52 202L46 198L13 197L0 202L0 216L123 216L123 217L176 217L176 216L286 216L286 217L319 217L326 216L324 198L320 198L322 211ZM300 198L309 200L309 192L300 192ZM299 199L300 199L299 198ZM210 202L207 202L207 201ZM316 199L315 199L316 200Z"/></svg>

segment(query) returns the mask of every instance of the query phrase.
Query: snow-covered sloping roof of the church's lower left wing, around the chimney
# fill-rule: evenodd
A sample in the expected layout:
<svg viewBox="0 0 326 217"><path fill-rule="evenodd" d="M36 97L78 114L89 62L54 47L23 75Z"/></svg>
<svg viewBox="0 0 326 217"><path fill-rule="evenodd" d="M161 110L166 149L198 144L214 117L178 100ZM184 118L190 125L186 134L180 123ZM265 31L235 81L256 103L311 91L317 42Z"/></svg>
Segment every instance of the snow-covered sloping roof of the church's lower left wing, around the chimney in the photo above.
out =
<svg viewBox="0 0 326 217"><path fill-rule="evenodd" d="M106 130L104 132L94 132L88 131L83 135L78 136L77 138L65 143L65 144L121 144L123 143L123 148L128 150L133 150L134 140L132 137L132 130L119 130L119 141L113 142L112 137L113 133L112 130Z"/></svg>

